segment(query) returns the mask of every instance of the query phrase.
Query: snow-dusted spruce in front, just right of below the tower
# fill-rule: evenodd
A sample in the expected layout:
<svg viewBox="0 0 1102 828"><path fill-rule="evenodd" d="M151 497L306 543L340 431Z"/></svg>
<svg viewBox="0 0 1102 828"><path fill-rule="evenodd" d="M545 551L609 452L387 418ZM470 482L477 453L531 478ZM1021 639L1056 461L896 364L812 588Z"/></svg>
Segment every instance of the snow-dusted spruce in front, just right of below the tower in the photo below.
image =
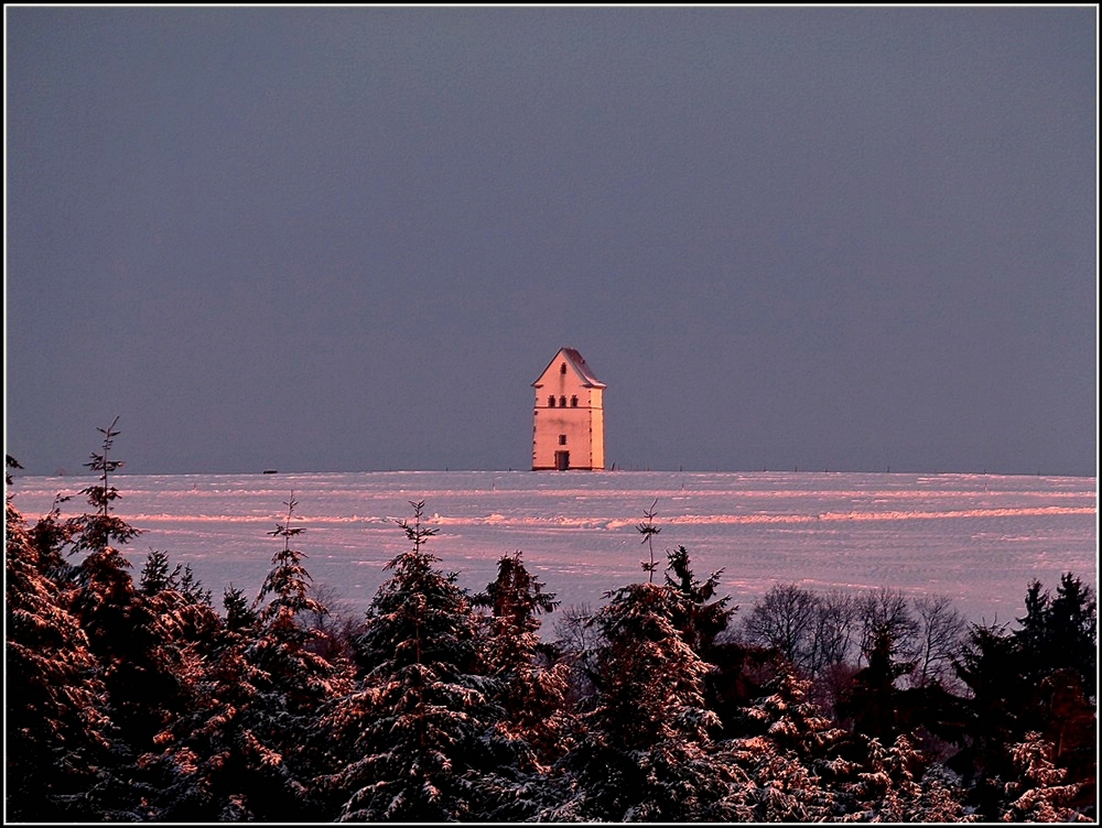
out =
<svg viewBox="0 0 1102 828"><path fill-rule="evenodd" d="M587 732L563 760L566 800L552 820L727 820L735 777L712 755L698 656L678 621L689 617L677 587L622 587L597 614L605 645L597 657L599 691L584 716Z"/></svg>

